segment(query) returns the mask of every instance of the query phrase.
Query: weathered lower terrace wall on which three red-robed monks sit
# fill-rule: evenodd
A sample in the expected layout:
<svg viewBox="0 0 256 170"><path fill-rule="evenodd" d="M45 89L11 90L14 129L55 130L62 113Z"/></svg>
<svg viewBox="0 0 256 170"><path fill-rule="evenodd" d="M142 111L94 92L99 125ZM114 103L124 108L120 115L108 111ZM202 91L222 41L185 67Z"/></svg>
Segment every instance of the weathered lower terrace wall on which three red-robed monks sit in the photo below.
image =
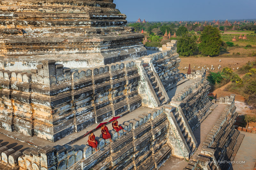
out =
<svg viewBox="0 0 256 170"><path fill-rule="evenodd" d="M120 126L128 131L120 130L118 136L112 130L112 143L96 137L98 152L89 145L30 148L19 157L20 169L159 169L171 156L172 149L167 144L169 122L162 107Z"/></svg>

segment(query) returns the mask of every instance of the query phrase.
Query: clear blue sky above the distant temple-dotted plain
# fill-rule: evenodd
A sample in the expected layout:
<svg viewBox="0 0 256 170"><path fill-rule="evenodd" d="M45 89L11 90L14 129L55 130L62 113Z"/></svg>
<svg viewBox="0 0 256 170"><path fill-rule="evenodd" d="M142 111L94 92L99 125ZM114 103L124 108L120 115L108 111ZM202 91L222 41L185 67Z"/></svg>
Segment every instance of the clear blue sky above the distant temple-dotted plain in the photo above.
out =
<svg viewBox="0 0 256 170"><path fill-rule="evenodd" d="M127 21L224 20L256 18L256 0L114 0Z"/></svg>

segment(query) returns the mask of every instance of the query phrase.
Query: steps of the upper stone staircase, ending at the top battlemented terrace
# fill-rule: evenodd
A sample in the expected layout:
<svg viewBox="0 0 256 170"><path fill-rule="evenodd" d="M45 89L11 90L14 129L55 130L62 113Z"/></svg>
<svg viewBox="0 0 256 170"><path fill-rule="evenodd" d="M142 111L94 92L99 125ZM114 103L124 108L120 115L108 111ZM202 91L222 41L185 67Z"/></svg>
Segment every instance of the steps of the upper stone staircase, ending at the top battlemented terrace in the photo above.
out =
<svg viewBox="0 0 256 170"><path fill-rule="evenodd" d="M150 66L147 65L146 67L144 67L144 69L148 75L151 85L154 88L154 91L156 92L156 95L157 95L158 100L160 101L160 104L161 105L167 104L165 97L162 95L163 92L159 89L158 82L156 81L156 77L154 76L154 73L151 70Z"/></svg>

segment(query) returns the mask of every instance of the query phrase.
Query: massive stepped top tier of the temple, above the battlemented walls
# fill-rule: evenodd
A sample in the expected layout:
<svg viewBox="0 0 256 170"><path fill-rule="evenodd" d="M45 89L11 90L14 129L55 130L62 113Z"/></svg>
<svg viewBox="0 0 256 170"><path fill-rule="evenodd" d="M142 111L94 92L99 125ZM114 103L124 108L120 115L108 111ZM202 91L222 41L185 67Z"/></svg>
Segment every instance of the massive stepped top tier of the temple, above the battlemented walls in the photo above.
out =
<svg viewBox="0 0 256 170"><path fill-rule="evenodd" d="M113 0L1 1L0 68L35 69L44 59L94 67L147 54Z"/></svg>

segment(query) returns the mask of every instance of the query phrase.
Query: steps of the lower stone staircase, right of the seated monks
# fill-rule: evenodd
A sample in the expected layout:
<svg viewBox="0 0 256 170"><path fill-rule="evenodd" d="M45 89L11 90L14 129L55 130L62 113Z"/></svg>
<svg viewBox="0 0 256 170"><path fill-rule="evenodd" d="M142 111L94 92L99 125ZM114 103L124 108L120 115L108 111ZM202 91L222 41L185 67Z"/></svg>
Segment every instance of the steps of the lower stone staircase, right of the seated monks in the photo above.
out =
<svg viewBox="0 0 256 170"><path fill-rule="evenodd" d="M183 137L185 138L185 141L189 147L190 152L192 153L195 150L195 145L194 143L191 141L191 137L188 134L188 131L186 129L186 127L184 126L184 122L181 119L181 116L179 114L179 112L173 113L175 120L178 123L178 126L180 127L181 133L183 135Z"/></svg>

